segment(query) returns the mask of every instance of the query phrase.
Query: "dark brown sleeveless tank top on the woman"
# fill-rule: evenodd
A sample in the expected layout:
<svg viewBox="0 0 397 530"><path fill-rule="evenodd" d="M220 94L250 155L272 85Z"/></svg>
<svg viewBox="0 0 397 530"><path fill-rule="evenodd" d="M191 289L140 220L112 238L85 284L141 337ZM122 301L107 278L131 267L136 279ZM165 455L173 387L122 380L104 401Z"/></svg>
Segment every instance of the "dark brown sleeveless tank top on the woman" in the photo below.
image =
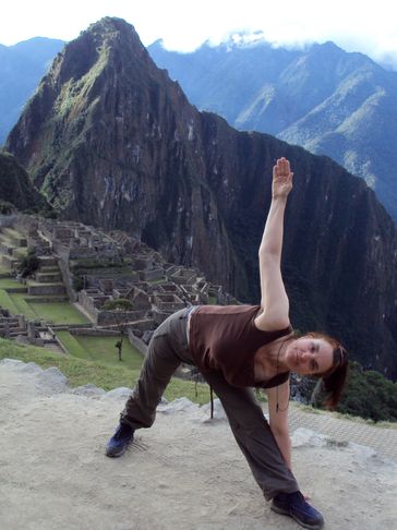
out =
<svg viewBox="0 0 397 530"><path fill-rule="evenodd" d="M291 326L277 332L258 329L254 320L260 309L260 305L200 305L191 314L190 351L203 373L221 371L230 385L241 388L272 388L288 380L289 372L284 372L267 382L255 382L256 351L292 332Z"/></svg>

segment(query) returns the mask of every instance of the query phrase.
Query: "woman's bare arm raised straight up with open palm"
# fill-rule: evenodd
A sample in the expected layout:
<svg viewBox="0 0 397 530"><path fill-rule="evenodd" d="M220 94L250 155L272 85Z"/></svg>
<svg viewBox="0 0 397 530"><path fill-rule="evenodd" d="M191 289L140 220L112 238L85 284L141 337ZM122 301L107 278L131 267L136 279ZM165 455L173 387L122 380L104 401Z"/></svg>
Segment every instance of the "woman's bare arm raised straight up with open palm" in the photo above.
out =
<svg viewBox="0 0 397 530"><path fill-rule="evenodd" d="M272 204L260 246L262 313L255 318L260 329L281 329L289 325L289 301L281 277L284 214L292 190L289 161L280 158L273 168Z"/></svg>

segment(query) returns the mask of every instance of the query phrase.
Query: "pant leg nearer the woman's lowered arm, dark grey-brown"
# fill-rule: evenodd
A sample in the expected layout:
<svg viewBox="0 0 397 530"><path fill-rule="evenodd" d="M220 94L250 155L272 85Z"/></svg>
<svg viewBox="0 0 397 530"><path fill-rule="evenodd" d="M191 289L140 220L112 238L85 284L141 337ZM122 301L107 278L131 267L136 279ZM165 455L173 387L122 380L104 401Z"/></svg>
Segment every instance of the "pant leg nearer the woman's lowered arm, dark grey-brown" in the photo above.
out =
<svg viewBox="0 0 397 530"><path fill-rule="evenodd" d="M203 373L219 397L231 431L267 501L299 490L252 389L228 384L221 372Z"/></svg>

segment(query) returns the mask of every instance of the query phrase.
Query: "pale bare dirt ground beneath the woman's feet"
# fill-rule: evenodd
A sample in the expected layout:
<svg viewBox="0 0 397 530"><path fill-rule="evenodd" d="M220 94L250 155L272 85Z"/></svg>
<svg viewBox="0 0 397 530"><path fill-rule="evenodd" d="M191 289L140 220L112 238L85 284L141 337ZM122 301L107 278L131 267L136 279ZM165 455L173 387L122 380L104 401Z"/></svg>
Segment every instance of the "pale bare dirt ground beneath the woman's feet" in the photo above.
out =
<svg viewBox="0 0 397 530"><path fill-rule="evenodd" d="M110 459L128 389L71 390L57 369L0 362L0 528L7 530L298 529L270 511L218 411L159 406L151 430ZM397 463L373 449L293 435L301 490L326 529L397 528Z"/></svg>

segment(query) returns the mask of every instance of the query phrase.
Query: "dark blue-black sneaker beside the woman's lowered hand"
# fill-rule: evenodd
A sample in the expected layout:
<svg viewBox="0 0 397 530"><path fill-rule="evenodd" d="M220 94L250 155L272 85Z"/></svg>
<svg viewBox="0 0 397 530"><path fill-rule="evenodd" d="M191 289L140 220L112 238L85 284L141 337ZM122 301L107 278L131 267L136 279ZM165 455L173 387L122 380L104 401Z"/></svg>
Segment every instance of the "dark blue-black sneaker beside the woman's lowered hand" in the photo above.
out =
<svg viewBox="0 0 397 530"><path fill-rule="evenodd" d="M301 492L279 493L274 497L270 508L277 514L292 517L303 528L323 528L323 516L304 499Z"/></svg>

